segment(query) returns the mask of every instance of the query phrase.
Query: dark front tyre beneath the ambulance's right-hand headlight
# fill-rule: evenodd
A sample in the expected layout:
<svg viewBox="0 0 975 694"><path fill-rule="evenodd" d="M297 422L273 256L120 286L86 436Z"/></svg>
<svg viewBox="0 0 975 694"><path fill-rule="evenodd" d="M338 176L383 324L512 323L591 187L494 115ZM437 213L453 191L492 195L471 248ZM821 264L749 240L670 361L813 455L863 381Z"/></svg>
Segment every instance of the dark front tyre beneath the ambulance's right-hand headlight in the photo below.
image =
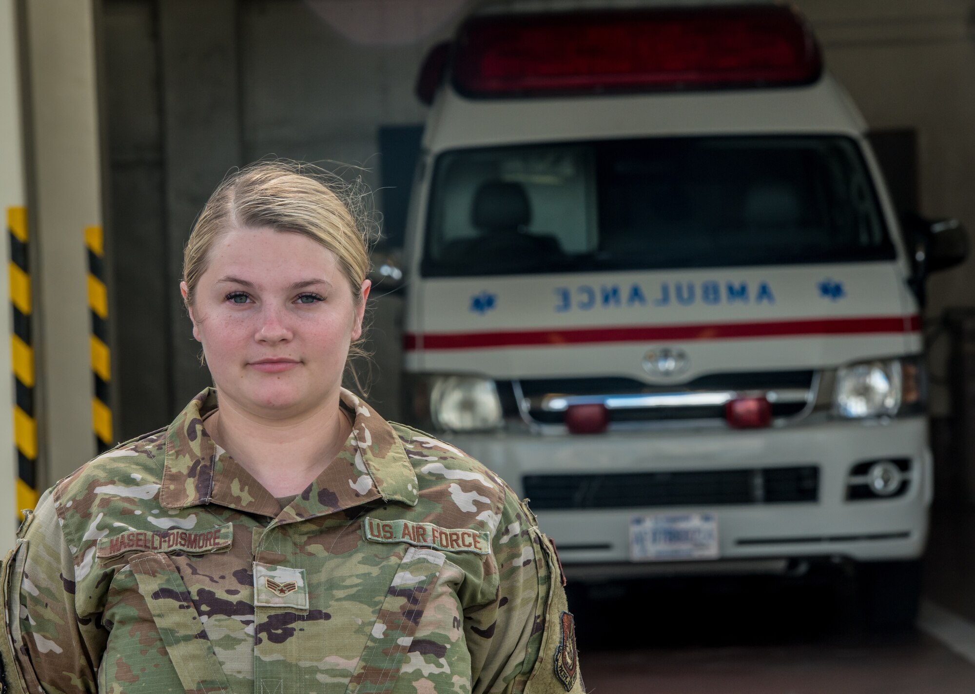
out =
<svg viewBox="0 0 975 694"><path fill-rule="evenodd" d="M870 561L857 566L857 593L875 630L910 629L920 605L921 562Z"/></svg>

